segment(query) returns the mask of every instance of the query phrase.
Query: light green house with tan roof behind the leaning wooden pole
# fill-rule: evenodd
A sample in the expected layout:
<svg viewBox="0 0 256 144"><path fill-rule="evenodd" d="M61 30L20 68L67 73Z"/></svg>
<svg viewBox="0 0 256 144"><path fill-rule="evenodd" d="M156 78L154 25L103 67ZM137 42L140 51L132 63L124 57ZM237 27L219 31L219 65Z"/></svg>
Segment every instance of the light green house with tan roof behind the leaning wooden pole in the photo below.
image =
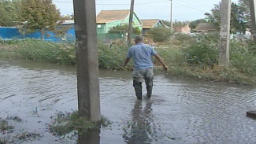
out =
<svg viewBox="0 0 256 144"><path fill-rule="evenodd" d="M128 25L130 17L130 10L102 10L98 13L97 21L97 33L106 34L108 31L118 25ZM142 30L142 22L139 17L133 14L133 27Z"/></svg>

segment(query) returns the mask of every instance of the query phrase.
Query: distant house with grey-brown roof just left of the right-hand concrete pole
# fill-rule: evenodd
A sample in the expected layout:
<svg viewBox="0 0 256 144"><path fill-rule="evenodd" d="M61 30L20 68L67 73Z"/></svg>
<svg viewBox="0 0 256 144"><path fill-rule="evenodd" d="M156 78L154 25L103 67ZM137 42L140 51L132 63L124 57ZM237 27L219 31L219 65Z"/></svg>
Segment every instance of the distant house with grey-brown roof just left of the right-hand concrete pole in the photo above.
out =
<svg viewBox="0 0 256 144"><path fill-rule="evenodd" d="M199 23L193 31L207 33L210 31L218 31L218 28L213 23Z"/></svg>

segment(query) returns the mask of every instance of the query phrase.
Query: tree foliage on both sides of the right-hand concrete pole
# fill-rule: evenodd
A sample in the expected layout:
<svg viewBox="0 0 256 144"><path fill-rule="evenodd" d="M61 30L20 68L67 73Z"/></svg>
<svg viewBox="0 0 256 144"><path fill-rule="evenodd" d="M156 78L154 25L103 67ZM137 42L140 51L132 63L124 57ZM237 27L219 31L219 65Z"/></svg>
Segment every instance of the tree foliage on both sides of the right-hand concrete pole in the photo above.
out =
<svg viewBox="0 0 256 144"><path fill-rule="evenodd" d="M245 0L239 0L238 3L232 2L231 5L231 31L244 32L249 27L250 11ZM206 13L206 16L213 24L221 24L221 3L215 5L212 13Z"/></svg>

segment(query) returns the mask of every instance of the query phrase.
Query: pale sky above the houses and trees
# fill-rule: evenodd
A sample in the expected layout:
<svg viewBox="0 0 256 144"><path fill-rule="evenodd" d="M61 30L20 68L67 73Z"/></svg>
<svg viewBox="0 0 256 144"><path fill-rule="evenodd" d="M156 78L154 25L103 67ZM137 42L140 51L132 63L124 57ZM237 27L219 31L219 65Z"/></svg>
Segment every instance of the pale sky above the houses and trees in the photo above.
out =
<svg viewBox="0 0 256 144"><path fill-rule="evenodd" d="M53 0L61 15L72 14L72 0ZM214 4L221 0L173 0L173 21L198 20L210 13ZM232 0L238 2L238 0ZM130 9L131 0L96 0L96 14L101 10ZM139 19L170 18L170 0L135 0L135 13Z"/></svg>

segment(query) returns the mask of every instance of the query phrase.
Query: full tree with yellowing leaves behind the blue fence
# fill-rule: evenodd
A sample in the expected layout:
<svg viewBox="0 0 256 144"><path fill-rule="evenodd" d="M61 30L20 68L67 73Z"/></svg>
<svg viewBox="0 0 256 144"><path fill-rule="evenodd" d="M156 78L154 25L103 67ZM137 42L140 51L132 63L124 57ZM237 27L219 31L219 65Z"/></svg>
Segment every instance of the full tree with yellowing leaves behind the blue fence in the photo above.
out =
<svg viewBox="0 0 256 144"><path fill-rule="evenodd" d="M21 17L28 22L25 31L31 33L39 30L42 39L46 30L54 31L58 20L61 20L61 14L51 0L23 0Z"/></svg>

